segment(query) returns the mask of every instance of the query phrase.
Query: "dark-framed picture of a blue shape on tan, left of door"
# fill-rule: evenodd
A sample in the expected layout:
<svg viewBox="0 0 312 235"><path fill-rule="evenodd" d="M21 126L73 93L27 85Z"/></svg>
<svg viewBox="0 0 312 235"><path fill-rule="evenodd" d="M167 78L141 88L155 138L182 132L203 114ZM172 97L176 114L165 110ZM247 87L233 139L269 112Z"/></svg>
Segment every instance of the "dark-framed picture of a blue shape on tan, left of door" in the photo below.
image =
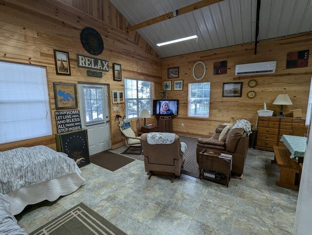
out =
<svg viewBox="0 0 312 235"><path fill-rule="evenodd" d="M55 108L77 109L77 86L75 83L53 82Z"/></svg>

